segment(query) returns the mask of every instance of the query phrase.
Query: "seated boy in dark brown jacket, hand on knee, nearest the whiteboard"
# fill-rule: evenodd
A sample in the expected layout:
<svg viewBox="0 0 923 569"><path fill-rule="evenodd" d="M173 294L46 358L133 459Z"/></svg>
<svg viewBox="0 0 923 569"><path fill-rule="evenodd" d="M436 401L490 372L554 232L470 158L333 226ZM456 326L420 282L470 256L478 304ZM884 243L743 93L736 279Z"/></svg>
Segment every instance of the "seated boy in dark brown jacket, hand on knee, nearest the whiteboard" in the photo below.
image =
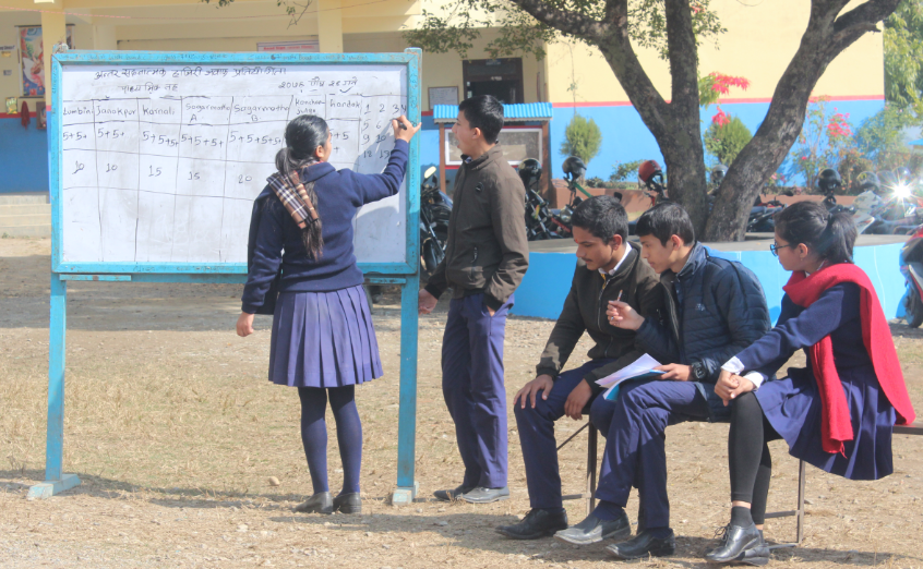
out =
<svg viewBox="0 0 923 569"><path fill-rule="evenodd" d="M640 249L628 243L628 218L618 199L597 196L582 203L574 211L573 227L579 262L571 292L541 354L537 377L513 401L532 509L520 523L498 531L516 540L567 529L554 422L563 415L582 419L587 403L602 391L596 380L644 353L635 346L634 330L607 320L608 302L621 299L646 317L659 318L663 311L660 281L640 258ZM562 373L585 331L595 342L590 361Z"/></svg>

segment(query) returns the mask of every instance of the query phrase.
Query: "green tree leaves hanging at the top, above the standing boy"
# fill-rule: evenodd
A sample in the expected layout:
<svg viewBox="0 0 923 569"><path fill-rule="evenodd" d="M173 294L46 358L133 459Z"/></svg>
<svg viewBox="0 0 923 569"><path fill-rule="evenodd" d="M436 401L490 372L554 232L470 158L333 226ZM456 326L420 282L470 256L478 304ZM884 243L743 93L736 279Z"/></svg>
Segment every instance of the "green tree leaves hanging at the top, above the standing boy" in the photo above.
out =
<svg viewBox="0 0 923 569"><path fill-rule="evenodd" d="M204 0L203 0L204 1ZM667 15L664 0L628 0L628 35L639 48L657 50L667 59ZM709 10L712 0L698 0L693 13L696 41L717 41L726 32L718 15ZM574 12L602 21L604 0L542 0L549 10ZM482 29L499 29L486 50L492 58L531 53L544 58L544 45L561 37L573 37L587 45L595 44L586 37L559 32L553 26L539 23L531 15L506 0L451 0L437 12L423 10L422 22L416 29L404 33L411 46L430 53L456 51L463 58L481 37Z"/></svg>

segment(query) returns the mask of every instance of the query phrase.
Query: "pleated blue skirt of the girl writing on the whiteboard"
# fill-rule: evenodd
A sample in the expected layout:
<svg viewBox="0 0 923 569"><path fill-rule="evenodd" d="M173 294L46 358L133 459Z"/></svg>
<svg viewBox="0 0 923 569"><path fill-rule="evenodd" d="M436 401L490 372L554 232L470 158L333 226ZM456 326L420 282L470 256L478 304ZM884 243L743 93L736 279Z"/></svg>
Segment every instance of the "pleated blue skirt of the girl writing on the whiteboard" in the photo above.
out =
<svg viewBox="0 0 923 569"><path fill-rule="evenodd" d="M382 375L372 314L361 286L279 293L273 316L271 382L328 388Z"/></svg>

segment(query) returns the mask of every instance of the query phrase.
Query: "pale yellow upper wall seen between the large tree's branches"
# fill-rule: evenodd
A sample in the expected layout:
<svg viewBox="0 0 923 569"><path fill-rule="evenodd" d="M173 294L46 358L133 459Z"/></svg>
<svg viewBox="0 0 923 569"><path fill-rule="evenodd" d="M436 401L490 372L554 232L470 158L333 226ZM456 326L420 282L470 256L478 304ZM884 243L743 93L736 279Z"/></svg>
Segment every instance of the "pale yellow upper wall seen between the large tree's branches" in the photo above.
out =
<svg viewBox="0 0 923 569"><path fill-rule="evenodd" d="M855 2L853 2L855 3ZM712 8L728 29L718 45L699 50L699 72L714 71L744 76L751 87L733 89L731 98L768 99L798 50L807 25L808 2L770 0L745 4L738 0L714 0ZM670 98L667 63L652 50L642 50L642 63L657 89ZM885 92L884 48L880 34L866 34L827 68L815 87L817 95L880 97ZM628 100L609 64L596 48L584 44L549 46L549 89L553 102L603 102ZM576 94L568 92L572 75Z"/></svg>

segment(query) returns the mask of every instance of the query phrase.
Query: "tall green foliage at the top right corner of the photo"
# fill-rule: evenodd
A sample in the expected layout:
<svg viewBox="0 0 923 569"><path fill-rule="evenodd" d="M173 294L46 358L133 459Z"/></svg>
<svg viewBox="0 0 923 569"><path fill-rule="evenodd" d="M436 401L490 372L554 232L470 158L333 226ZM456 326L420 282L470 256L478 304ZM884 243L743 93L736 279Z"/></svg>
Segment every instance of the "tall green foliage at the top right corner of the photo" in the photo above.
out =
<svg viewBox="0 0 923 569"><path fill-rule="evenodd" d="M923 119L923 0L903 0L885 21L885 97Z"/></svg>

